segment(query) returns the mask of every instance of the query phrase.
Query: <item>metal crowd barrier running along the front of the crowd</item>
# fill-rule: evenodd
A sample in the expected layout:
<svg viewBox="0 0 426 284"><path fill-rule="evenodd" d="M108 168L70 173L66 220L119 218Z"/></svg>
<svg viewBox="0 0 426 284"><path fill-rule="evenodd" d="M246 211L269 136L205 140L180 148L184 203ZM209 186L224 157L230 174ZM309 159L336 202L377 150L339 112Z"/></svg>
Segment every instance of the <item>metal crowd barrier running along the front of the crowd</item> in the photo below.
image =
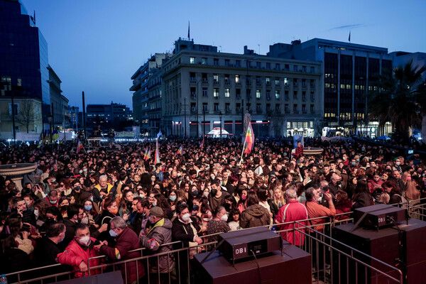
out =
<svg viewBox="0 0 426 284"><path fill-rule="evenodd" d="M414 205L411 205L414 207ZM422 209L425 209L423 207L420 207ZM338 214L337 217L339 217L340 215L342 216L346 216L346 215L351 215L352 212L345 212L342 214ZM315 224L313 226L307 226L305 224L303 224L302 222L309 222L315 219L324 219L324 218L328 218L329 221L327 222L323 222L321 224ZM284 230L279 230L276 231L276 233L282 233L282 232L289 232L290 234L302 234L302 236L304 236L305 238L305 242L304 244L300 245L299 247L301 249L304 249L305 251L307 251L308 253L315 253L315 250L313 250L312 248L315 247L315 249L317 249L316 251L320 250L320 247L323 247L323 251L324 251L324 256L322 256L323 258L326 257L325 252L329 251L329 255L331 255L331 257L337 257L339 258L339 263L340 260L346 259L346 263L349 263L349 261L353 261L356 263L356 268L358 266L361 266L364 268L365 271L368 271L368 273L375 273L375 275L383 275L383 277L385 277L386 279L389 280L389 283L402 283L401 279L402 279L402 273L400 273L400 271L396 268L394 268L393 266L389 266L386 263L383 263L381 261L378 261L375 258L371 258L371 256L366 255L365 253L362 253L361 251L356 251L356 249L352 249L349 246L346 246L345 244L342 244L339 241L336 241L334 239L332 239L332 227L333 226L337 226L339 224L343 224L343 223L347 223L347 222L352 222L352 219L343 219L343 220L336 220L334 218L330 218L330 217L317 217L317 218L312 218L312 219L306 219L306 220L300 220L299 222L285 222L285 223L280 223L280 224L273 224L273 225L267 225L267 227L278 227L278 226L283 226L283 225L291 225L293 224L293 229L284 229ZM329 235L321 233L319 231L315 231L314 229L312 229L312 227L316 227L316 226L324 226L324 231L327 232L327 234L329 233ZM313 232L312 234L310 234L310 232ZM217 234L221 234L221 233L217 233ZM211 234L211 235L207 235L207 236L202 236L203 239L209 238L211 236L217 235L217 234ZM163 244L160 247L163 246L168 246L168 245L182 245L181 241L175 241L169 244ZM182 249L174 249L173 251L167 251L167 252L163 252L163 253L155 253L153 255L150 255L148 253L147 249L141 248L141 249L136 249L133 251L129 251L129 252L135 252L138 251L141 253L141 256L139 256L138 258L132 258L129 260L124 260L124 261L116 261L114 263L107 263L107 256L97 256L95 258L89 258L89 261L87 261L87 267L88 267L88 271L90 274L90 271L92 271L93 269L101 269L102 272L107 272L109 270L115 271L116 269L121 269L124 272L124 280L125 283L127 284L127 266L129 266L129 263L137 263L138 261L142 261L144 266L146 267L146 276L145 278L143 278L143 283L158 283L158 279L164 279L166 280L165 283L189 283L191 280L192 275L194 274L194 271L190 270L191 267L191 261L190 261L190 249L197 249L197 250L202 250L202 251L209 251L209 249L214 248L214 244L217 244L217 241L212 241L212 242L204 242L204 244L198 245L198 246L192 246L190 248L182 248ZM315 246L314 246L315 245ZM339 247L342 247L348 251L350 251L350 253L347 253L345 251L343 251L342 249L337 249L334 246L337 245ZM354 253L357 253L357 255L362 256L363 258L366 257L368 259L371 259L373 261L376 261L377 263L381 263L384 266L393 269L393 271L397 272L398 275L400 275L400 279L398 280L398 278L392 277L390 275L387 275L386 273L384 273L383 271L378 270L378 268L374 268L373 266L368 265L368 263L365 263L364 261L361 261L357 258L354 257ZM149 273L150 272L150 267L153 265L152 263L155 263L155 258L157 263L158 263L158 267L160 266L159 261L160 261L160 257L161 256L167 256L168 261L170 261L170 259L172 258L172 256L175 258L175 268L168 271L168 273L160 273L160 270L157 269L157 273L156 275L153 275L153 273ZM99 258L99 261L102 262L101 265L99 266L90 266L89 262L93 259ZM184 259L181 259L184 258ZM182 262L182 261L185 261ZM151 264L150 264L151 262ZM315 259L312 258L312 267L315 268L315 272L316 272L316 277L315 279L312 279L312 283L315 283L315 281L318 280L322 280L324 283L326 283L326 281L330 282L330 279L327 278L329 277L329 275L327 275L327 270L330 270L329 272L332 275L332 270L336 269L336 268L329 268L328 266L326 266L326 264L330 264L327 263L327 261L323 261L324 263L324 267L322 267L322 269L320 269L320 259L319 259L319 255L315 254ZM124 267L123 267L124 265ZM67 278L72 278L72 273L75 273L76 271L67 271L67 272L63 272L63 273L55 273L52 275L46 275L46 276L41 276L38 278L32 278L32 279L23 279L22 278L22 274L23 273L28 273L31 271L36 271L36 270L40 270L40 269L46 269L46 268L57 268L59 266L62 266L60 264L55 264L54 266L45 266L45 267L41 267L41 268L33 268L30 269L28 271L18 271L16 273L9 273L6 274L6 276L8 277L16 277L18 279L18 282L16 283L34 283L35 281L40 281L41 283L43 283L43 281L48 280L49 278L55 278L55 280L58 279L59 276L67 276ZM340 268L340 267L339 267ZM357 268L358 269L358 268ZM340 270L340 269L339 269ZM322 272L321 272L322 271ZM138 273L138 270L136 269L136 273ZM322 273L322 279L320 273ZM138 276L138 275L137 275ZM137 277L139 278L139 277ZM356 279L357 280L357 279ZM168 282L167 282L168 281ZM175 281L175 282L174 282ZM358 280L357 280L358 281ZM45 283L45 282L44 282ZM137 283L141 283L141 281L137 280ZM331 283L333 283L333 279L331 279ZM347 282L337 282L337 283L349 283L349 279L347 280ZM358 283L358 282L356 282ZM364 282L359 282L359 283L364 283Z"/></svg>

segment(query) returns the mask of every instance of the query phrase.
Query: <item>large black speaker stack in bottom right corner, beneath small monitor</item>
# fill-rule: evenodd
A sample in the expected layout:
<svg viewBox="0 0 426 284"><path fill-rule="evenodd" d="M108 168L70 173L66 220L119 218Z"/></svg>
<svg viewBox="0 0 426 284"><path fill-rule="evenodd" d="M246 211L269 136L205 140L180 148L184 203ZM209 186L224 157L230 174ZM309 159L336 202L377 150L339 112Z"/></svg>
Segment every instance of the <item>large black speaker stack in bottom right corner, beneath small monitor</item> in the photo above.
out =
<svg viewBox="0 0 426 284"><path fill-rule="evenodd" d="M426 222L410 219L385 229L365 229L354 224L335 226L332 230L333 239L341 241L368 256L383 261L390 266L400 269L406 280L404 283L417 284L426 279ZM400 245L399 245L400 242ZM350 249L337 243L333 246L345 253L351 254ZM360 253L354 253L354 258L369 266L383 271L393 278L399 279L399 274L378 261L371 260ZM345 257L333 255L334 281L349 279L349 283L388 283L388 279L379 273L356 266L355 261L347 261ZM361 281L361 282L360 282Z"/></svg>

